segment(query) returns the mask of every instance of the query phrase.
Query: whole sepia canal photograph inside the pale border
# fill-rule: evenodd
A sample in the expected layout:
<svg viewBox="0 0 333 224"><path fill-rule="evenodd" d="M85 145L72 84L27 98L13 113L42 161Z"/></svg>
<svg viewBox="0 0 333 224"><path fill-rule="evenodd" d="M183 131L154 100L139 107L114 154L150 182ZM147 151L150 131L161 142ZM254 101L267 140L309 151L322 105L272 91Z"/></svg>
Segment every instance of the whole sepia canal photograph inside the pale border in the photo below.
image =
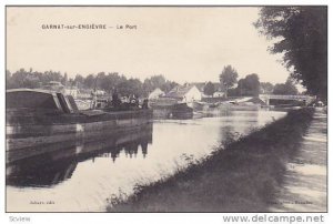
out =
<svg viewBox="0 0 333 224"><path fill-rule="evenodd" d="M327 6L6 6L6 213L327 213Z"/></svg>

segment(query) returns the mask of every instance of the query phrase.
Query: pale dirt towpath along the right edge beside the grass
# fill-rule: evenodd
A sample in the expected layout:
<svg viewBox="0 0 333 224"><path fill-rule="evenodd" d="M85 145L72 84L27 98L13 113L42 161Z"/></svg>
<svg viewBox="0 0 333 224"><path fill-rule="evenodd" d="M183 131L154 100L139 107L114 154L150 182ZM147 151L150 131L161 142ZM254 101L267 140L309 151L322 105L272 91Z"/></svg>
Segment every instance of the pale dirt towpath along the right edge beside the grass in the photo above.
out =
<svg viewBox="0 0 333 224"><path fill-rule="evenodd" d="M272 212L326 212L327 115L316 109L299 154L287 163Z"/></svg>

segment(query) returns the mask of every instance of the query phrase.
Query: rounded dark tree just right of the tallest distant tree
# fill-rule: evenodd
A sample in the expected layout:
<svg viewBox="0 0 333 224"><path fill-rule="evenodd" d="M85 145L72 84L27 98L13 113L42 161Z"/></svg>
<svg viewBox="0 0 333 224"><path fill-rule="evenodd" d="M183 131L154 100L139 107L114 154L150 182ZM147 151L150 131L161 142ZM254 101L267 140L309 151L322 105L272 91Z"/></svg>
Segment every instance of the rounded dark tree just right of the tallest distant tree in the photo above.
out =
<svg viewBox="0 0 333 224"><path fill-rule="evenodd" d="M260 92L258 74L248 74L244 79L240 79L236 89L240 95L258 96Z"/></svg>

